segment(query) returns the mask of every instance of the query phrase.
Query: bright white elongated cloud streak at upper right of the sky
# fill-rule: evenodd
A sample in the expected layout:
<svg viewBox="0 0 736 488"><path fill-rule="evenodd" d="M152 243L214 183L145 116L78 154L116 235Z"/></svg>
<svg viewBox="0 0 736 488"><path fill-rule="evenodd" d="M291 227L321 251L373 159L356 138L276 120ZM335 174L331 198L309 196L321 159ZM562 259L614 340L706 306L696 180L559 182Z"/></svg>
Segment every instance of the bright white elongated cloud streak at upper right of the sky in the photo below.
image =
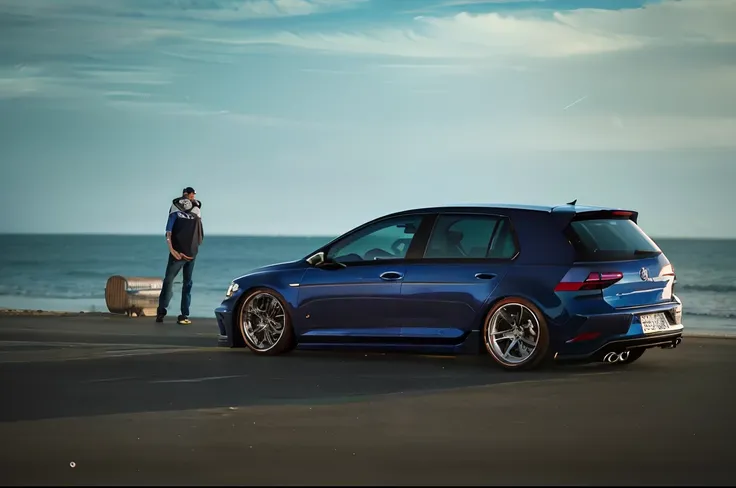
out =
<svg viewBox="0 0 736 488"><path fill-rule="evenodd" d="M406 28L285 31L201 40L413 58L555 58L653 46L731 44L736 42L733 25L736 0L664 0L645 8L579 9L556 12L551 17L459 13L416 17Z"/></svg>

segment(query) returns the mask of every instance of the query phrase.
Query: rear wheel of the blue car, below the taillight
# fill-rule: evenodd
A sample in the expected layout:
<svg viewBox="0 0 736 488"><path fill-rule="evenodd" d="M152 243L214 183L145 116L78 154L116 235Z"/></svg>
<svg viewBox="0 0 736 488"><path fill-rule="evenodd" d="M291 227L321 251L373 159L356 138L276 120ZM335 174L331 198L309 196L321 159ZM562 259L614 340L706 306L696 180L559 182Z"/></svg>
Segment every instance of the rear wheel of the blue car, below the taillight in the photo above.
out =
<svg viewBox="0 0 736 488"><path fill-rule="evenodd" d="M515 319L515 315L523 310L522 322L525 327L514 327L506 317ZM511 320L515 322L515 320ZM529 327L531 323L531 327ZM494 324L495 329L494 330ZM493 332L505 332L508 328L511 337L500 337L501 334L495 334L496 340L491 339ZM524 353L529 351L530 344L535 338L536 343L531 354L522 358ZM537 368L549 359L549 329L544 314L529 300L523 298L504 298L491 307L483 321L483 344L486 352L491 358L502 368L509 371L530 370ZM523 339L523 340L522 340ZM501 341L503 342L501 343ZM516 341L514 343L514 341ZM513 345L512 345L513 344ZM503 354L503 348L506 349L506 356Z"/></svg>

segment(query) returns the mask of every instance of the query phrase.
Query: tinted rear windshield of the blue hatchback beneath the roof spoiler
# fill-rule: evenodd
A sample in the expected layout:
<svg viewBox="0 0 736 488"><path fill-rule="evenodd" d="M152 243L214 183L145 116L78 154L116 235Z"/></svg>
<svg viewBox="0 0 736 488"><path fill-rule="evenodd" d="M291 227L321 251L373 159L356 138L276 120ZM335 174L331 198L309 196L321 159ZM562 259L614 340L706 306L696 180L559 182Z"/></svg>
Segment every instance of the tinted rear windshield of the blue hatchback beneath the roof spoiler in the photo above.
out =
<svg viewBox="0 0 736 488"><path fill-rule="evenodd" d="M569 234L578 261L622 261L662 252L629 219L576 220L570 224Z"/></svg>

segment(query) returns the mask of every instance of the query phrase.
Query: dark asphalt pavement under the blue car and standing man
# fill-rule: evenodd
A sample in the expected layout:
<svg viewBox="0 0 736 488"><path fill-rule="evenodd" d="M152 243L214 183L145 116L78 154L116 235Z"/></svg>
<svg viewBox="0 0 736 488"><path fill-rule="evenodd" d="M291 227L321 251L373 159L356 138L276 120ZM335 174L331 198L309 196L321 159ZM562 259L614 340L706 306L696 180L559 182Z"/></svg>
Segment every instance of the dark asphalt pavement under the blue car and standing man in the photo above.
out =
<svg viewBox="0 0 736 488"><path fill-rule="evenodd" d="M736 340L527 373L216 341L209 320L0 316L0 484L736 483Z"/></svg>

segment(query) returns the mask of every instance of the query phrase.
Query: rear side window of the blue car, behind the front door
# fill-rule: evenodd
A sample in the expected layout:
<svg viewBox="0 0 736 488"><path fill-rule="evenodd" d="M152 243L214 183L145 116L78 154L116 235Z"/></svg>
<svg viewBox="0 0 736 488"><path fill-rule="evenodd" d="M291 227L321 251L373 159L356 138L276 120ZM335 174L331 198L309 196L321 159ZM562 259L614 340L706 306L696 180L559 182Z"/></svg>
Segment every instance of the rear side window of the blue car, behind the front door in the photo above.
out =
<svg viewBox="0 0 736 488"><path fill-rule="evenodd" d="M440 215L426 259L511 259L516 243L508 219L492 215Z"/></svg>

